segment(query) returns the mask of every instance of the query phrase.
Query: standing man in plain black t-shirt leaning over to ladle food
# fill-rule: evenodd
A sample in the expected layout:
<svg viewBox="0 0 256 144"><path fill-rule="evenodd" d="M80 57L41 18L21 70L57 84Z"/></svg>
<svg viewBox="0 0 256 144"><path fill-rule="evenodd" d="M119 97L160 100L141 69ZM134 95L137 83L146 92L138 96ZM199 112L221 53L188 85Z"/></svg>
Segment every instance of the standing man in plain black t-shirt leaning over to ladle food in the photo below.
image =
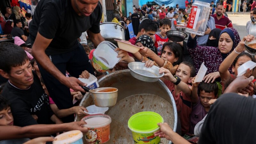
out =
<svg viewBox="0 0 256 144"><path fill-rule="evenodd" d="M40 0L29 23L32 54L53 101L59 109L73 107L69 88L84 92L77 77L87 70L94 74L90 60L77 38L90 30L95 46L100 35L102 7L99 0ZM66 77L66 70L74 77ZM74 116L62 119L74 121Z"/></svg>

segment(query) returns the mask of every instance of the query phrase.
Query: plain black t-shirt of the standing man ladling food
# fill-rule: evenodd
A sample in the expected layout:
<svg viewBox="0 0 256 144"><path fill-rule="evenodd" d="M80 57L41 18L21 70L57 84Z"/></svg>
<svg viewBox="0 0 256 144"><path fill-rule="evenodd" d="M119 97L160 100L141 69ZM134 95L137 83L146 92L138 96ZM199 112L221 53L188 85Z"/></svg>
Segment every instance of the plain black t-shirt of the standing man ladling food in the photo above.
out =
<svg viewBox="0 0 256 144"><path fill-rule="evenodd" d="M77 38L86 30L100 33L102 6L100 2L90 16L79 16L71 5L71 0L40 0L32 21L29 23L31 44L37 32L52 39L45 53L56 55L77 48Z"/></svg>

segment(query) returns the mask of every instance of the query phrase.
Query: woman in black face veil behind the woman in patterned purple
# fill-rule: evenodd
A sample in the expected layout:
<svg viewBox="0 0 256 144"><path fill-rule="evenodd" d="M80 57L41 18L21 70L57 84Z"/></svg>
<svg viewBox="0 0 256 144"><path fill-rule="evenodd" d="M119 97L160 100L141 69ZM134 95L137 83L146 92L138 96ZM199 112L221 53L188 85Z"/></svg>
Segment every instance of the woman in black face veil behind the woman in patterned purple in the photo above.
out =
<svg viewBox="0 0 256 144"><path fill-rule="evenodd" d="M221 32L220 28L212 29L205 46L218 47L218 43L219 43L219 39L220 39L220 32Z"/></svg>

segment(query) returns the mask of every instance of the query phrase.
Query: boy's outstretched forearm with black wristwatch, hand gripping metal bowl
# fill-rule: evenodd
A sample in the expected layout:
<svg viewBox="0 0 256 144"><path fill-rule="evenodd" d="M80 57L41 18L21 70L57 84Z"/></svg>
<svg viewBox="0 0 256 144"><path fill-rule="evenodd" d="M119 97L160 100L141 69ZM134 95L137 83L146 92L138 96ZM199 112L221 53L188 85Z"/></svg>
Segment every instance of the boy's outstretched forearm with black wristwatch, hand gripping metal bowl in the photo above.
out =
<svg viewBox="0 0 256 144"><path fill-rule="evenodd" d="M172 75L172 73L165 68L160 68L159 69L159 74L164 73L164 78L171 81L172 83L176 83L177 79ZM188 84L184 83L184 82L180 82L179 84L177 84L178 89L180 89L182 92L184 92L187 95L191 95L191 89L189 88Z"/></svg>

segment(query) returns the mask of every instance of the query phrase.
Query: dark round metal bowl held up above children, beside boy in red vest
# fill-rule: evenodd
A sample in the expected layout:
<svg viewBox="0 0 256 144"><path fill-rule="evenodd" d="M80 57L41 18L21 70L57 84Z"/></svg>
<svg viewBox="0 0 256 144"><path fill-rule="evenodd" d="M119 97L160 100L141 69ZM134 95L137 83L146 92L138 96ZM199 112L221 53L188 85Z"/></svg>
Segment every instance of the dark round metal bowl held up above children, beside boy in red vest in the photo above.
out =
<svg viewBox="0 0 256 144"><path fill-rule="evenodd" d="M182 42L188 37L186 33L178 30L169 30L165 34L173 42Z"/></svg>

